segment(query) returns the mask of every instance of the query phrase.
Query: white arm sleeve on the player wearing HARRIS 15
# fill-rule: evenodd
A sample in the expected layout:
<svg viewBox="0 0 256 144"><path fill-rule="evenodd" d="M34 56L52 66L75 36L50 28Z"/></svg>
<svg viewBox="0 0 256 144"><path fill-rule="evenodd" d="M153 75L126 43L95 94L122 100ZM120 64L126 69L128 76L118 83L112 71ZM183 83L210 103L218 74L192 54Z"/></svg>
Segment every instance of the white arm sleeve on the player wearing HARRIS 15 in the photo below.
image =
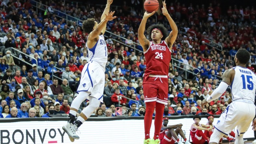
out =
<svg viewBox="0 0 256 144"><path fill-rule="evenodd" d="M226 91L227 87L228 87L228 85L225 82L222 81L220 83L220 85L218 86L218 88L213 91L211 96L209 96L206 101L211 102L213 100L216 100L217 98L219 98Z"/></svg>

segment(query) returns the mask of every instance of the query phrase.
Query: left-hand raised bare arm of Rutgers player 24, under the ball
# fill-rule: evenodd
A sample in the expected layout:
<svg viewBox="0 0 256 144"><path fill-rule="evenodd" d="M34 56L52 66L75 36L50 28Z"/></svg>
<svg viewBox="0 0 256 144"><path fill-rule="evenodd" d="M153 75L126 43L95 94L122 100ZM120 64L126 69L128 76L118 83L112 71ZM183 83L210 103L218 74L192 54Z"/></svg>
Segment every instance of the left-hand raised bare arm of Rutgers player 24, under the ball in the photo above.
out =
<svg viewBox="0 0 256 144"><path fill-rule="evenodd" d="M146 22L147 22L147 18L149 18L150 16L154 15L156 11L152 12L152 13L147 13L147 11L144 13L144 16L141 20L139 29L138 29L138 39L139 39L139 43L143 48L143 51L147 51L147 48L150 44L150 42L147 40L146 36L144 35L145 32L145 27L146 27Z"/></svg>

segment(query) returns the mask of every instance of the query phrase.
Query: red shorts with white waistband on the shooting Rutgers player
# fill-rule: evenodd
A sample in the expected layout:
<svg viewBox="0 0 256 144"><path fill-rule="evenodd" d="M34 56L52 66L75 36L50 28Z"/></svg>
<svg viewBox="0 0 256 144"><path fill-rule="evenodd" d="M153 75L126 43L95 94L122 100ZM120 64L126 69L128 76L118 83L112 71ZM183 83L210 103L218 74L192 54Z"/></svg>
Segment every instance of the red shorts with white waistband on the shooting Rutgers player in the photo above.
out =
<svg viewBox="0 0 256 144"><path fill-rule="evenodd" d="M145 102L168 102L168 78L147 77L143 79Z"/></svg>

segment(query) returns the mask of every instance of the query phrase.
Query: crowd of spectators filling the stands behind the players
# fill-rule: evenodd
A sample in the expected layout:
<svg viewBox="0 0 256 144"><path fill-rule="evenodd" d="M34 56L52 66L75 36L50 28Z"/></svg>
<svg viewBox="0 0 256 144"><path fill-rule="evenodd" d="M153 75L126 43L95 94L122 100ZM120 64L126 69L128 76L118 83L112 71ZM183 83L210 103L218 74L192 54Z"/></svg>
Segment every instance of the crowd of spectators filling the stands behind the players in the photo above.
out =
<svg viewBox="0 0 256 144"><path fill-rule="evenodd" d="M32 0L2 0L0 5L0 117L68 114L83 67L89 62L85 46L88 33L82 30L82 20L95 18L99 22L104 7L50 0L39 1L37 6L45 11L36 12ZM169 100L164 115L221 114L232 102L230 89L204 108L201 101L218 87L223 72L233 67L238 49L250 52L247 68L255 73L256 11L253 6L225 9L219 3L199 6L175 1L167 6L178 28L183 29L179 29L172 47L172 59L178 62L169 64ZM95 115L115 116L116 107L122 107L129 116L143 116L147 110L143 95L147 61L138 51L142 50L139 45L135 44L136 50L132 48L138 43L141 8L136 0L111 7L117 18L107 23L107 30L119 37L106 33L104 103ZM69 22L65 14L72 16L69 20L81 21ZM160 10L156 15L170 32ZM150 18L146 27L154 23L156 19ZM79 112L88 104L84 101Z"/></svg>

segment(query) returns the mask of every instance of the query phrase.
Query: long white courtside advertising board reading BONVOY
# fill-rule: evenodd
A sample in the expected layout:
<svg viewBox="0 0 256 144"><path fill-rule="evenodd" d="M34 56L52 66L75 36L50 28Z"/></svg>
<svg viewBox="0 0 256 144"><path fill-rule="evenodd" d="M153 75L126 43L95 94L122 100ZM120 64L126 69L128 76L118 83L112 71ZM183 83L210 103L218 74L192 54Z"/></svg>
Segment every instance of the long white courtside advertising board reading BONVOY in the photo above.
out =
<svg viewBox="0 0 256 144"><path fill-rule="evenodd" d="M189 129L192 118L169 120L169 125L182 123L186 138L189 138ZM207 119L202 118L201 124ZM217 122L217 118L214 120ZM28 121L0 123L0 144L70 144L68 135L62 130L66 121ZM131 144L142 143L144 139L144 120L113 120L113 121L86 121L79 127L80 139L72 144ZM154 120L152 121L150 136L154 135ZM249 130L244 138L253 138L254 133Z"/></svg>

